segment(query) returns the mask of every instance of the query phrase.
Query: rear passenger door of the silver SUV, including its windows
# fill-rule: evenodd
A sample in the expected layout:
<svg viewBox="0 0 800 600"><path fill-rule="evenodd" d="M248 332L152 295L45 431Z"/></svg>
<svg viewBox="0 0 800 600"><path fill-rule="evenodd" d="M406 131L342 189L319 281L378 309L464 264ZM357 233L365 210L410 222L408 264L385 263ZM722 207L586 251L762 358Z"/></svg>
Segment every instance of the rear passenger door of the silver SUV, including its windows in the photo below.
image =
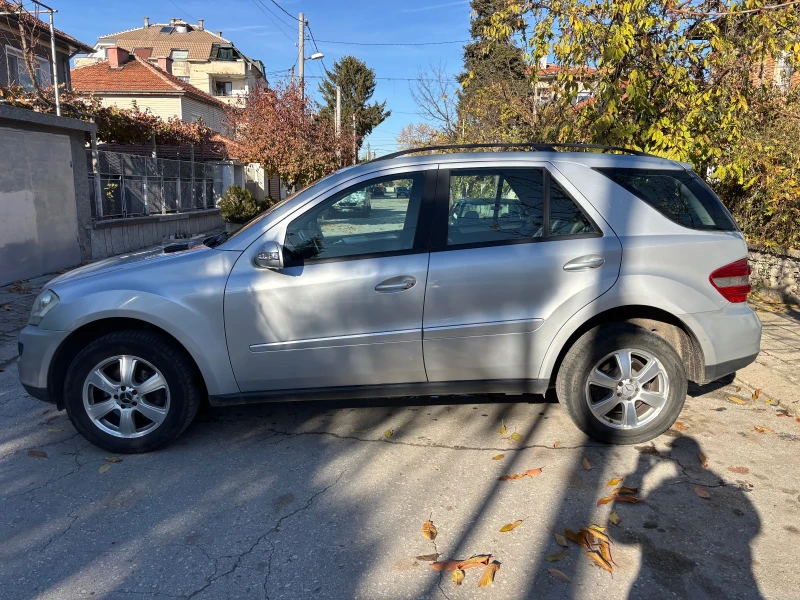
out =
<svg viewBox="0 0 800 600"><path fill-rule="evenodd" d="M448 166L425 295L428 379L533 380L563 323L616 281L622 246L545 163Z"/></svg>

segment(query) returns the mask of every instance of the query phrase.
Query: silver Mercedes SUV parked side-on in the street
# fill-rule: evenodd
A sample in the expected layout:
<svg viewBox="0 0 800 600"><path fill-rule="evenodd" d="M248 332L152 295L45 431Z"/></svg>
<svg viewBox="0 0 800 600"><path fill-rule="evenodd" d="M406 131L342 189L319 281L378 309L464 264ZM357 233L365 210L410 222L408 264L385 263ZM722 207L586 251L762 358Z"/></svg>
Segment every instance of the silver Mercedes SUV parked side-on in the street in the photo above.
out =
<svg viewBox="0 0 800 600"><path fill-rule="evenodd" d="M592 438L649 440L687 380L758 354L744 237L687 165L529 148L398 153L233 235L57 277L20 380L112 452L171 442L206 398L549 388ZM369 215L334 208L359 194Z"/></svg>

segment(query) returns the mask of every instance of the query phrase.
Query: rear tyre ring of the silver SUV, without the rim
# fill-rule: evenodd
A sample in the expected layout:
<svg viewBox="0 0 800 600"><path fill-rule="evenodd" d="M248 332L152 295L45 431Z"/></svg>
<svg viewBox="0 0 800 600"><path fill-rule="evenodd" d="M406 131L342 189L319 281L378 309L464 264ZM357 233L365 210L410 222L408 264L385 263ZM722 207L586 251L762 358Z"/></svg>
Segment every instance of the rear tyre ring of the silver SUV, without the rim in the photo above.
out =
<svg viewBox="0 0 800 600"><path fill-rule="evenodd" d="M669 378L667 400L661 411L634 429L617 429L592 414L586 399L588 377L607 355L636 348L653 355ZM569 349L556 377L556 394L572 421L594 440L609 444L638 444L672 427L686 400L686 369L675 349L654 333L628 323L601 325L584 333Z"/></svg>

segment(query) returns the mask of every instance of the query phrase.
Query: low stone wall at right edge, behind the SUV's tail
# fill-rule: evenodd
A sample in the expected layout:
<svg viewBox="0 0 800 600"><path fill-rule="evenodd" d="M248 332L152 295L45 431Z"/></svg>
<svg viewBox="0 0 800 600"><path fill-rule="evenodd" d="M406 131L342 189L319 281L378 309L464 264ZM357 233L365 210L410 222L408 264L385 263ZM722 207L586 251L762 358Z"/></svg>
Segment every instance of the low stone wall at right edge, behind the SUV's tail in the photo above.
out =
<svg viewBox="0 0 800 600"><path fill-rule="evenodd" d="M748 259L753 291L762 296L800 305L800 251L767 249L750 244Z"/></svg>

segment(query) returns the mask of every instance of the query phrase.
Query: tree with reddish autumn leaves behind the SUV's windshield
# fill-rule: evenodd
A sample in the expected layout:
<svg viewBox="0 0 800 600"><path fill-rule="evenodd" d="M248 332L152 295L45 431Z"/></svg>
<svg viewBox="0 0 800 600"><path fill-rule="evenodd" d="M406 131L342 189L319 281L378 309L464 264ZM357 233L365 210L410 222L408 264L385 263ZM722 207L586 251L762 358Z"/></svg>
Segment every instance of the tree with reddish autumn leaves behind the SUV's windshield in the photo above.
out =
<svg viewBox="0 0 800 600"><path fill-rule="evenodd" d="M305 187L352 162L350 132L337 137L333 122L315 113L294 84L251 90L228 120L240 158L261 164L290 187Z"/></svg>

